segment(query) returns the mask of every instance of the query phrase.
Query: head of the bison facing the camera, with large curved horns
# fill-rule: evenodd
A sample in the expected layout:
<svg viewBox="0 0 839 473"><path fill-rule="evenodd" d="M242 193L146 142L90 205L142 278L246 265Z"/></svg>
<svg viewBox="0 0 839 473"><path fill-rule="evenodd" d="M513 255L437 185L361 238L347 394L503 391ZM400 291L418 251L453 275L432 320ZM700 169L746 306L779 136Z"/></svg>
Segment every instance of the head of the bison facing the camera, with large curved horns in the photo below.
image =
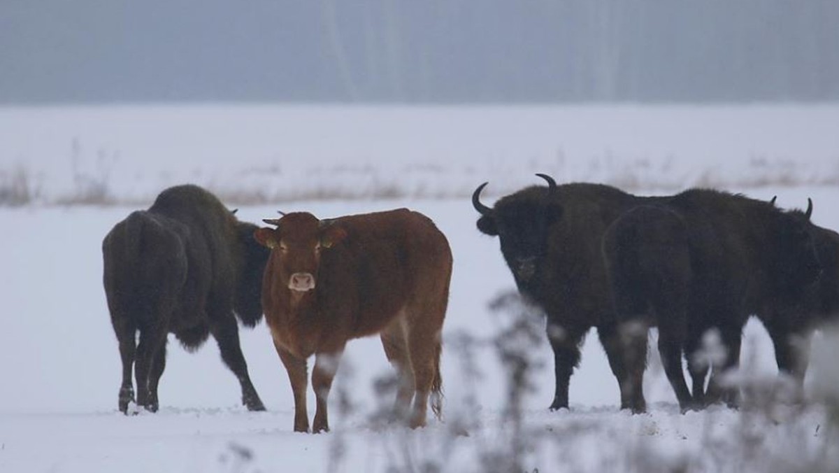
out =
<svg viewBox="0 0 839 473"><path fill-rule="evenodd" d="M498 236L501 252L519 289L532 285L539 265L545 259L550 226L562 216L562 208L555 201L556 181L545 174L536 176L548 182L548 188L529 187L502 197L494 208L481 203L481 191L487 182L472 194L472 206L481 214L477 229Z"/></svg>

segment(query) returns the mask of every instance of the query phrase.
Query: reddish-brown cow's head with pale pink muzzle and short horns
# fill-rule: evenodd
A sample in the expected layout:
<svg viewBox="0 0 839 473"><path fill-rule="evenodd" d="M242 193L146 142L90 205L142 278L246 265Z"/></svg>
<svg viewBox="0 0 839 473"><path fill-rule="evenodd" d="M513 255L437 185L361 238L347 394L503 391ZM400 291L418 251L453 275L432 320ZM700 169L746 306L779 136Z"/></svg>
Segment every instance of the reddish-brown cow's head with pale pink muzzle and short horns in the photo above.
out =
<svg viewBox="0 0 839 473"><path fill-rule="evenodd" d="M271 249L268 265L293 292L315 289L321 253L347 237L340 225L311 213L289 213L263 222L276 228L258 229L253 236Z"/></svg>

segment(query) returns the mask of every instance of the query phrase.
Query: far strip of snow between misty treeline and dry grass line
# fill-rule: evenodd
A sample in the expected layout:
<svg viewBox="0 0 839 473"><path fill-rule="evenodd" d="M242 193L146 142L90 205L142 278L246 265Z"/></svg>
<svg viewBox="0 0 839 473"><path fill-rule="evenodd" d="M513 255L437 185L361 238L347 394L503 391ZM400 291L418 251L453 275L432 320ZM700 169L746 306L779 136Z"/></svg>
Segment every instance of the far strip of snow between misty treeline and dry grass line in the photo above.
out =
<svg viewBox="0 0 839 473"><path fill-rule="evenodd" d="M0 196L148 202L194 181L237 203L463 197L530 182L633 190L839 184L839 105L0 108ZM524 172L523 172L524 171Z"/></svg>

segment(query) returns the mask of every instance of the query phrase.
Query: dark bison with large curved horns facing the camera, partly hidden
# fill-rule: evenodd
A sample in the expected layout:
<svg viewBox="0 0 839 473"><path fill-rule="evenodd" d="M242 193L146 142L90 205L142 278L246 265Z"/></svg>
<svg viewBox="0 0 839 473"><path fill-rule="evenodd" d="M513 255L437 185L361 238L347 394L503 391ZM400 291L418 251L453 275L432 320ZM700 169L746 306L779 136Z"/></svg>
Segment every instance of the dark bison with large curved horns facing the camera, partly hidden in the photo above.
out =
<svg viewBox="0 0 839 473"><path fill-rule="evenodd" d="M472 205L481 214L477 228L498 236L519 292L547 315L554 410L568 407L568 384L589 328L597 328L612 373L618 381L623 378L623 348L601 240L615 219L644 199L599 184L557 186L550 176L538 176L548 187L527 187L502 197L493 208L480 201L485 182L472 194ZM621 407L630 407L621 392Z"/></svg>

